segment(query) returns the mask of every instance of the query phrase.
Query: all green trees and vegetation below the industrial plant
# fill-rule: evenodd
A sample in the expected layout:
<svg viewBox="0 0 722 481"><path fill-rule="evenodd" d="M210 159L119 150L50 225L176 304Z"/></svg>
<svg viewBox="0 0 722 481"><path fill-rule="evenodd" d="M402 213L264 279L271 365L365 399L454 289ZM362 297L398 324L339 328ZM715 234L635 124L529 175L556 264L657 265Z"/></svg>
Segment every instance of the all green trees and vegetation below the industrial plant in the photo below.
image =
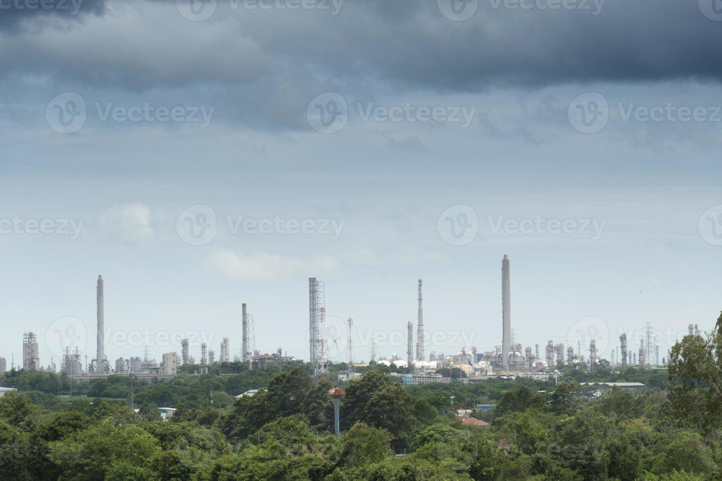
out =
<svg viewBox="0 0 722 481"><path fill-rule="evenodd" d="M328 379L300 367L216 371L134 384L112 376L57 397L52 374L14 371L0 397L0 477L11 480L618 480L722 479L722 316L704 340L674 347L668 379L630 369L644 392L586 395L565 381L490 379L404 387L382 368L346 384L342 436ZM340 366L336 366L340 367ZM388 369L388 367L386 368ZM230 374L230 373L229 373ZM581 375L579 375L581 376ZM63 379L65 381L65 379ZM647 384L647 383L645 383ZM669 390L666 387L669 386ZM126 389L127 388L127 389ZM263 388L252 397L233 396ZM50 392L46 392L49 390ZM79 389L79 391L81 391ZM116 398L116 399L113 399ZM213 402L211 402L211 400ZM456 410L495 404L489 426ZM160 420L159 405L178 408Z"/></svg>

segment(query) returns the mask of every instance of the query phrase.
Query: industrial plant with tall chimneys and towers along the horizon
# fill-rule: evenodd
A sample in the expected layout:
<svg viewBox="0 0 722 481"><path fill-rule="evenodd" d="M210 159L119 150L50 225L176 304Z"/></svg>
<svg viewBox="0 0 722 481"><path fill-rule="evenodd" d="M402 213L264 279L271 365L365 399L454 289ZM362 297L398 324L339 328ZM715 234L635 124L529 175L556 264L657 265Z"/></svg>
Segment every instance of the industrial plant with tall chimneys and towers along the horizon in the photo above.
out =
<svg viewBox="0 0 722 481"><path fill-rule="evenodd" d="M404 382L419 384L422 382L442 381L448 382L457 373L457 377L464 381L476 379L488 379L491 376L522 376L536 379L549 379L550 376L558 376L557 368L560 366L574 365L578 369L592 369L597 363L598 349L597 339L588 340L588 345L581 345L578 341L575 346L555 343L549 339L544 345L544 353L540 352L539 343L534 347L518 343L514 340L511 319L511 268L508 255L504 255L501 265L501 343L492 350L478 352L476 346L466 346L456 353L444 354L430 352L426 354L427 334L424 330L424 312L422 296L423 280L418 279L418 310L416 339L414 340L413 322L405 322L403 326L406 332L406 358L400 358L393 354L391 359L385 356L376 356L375 341L370 340L370 358L368 361L356 361L353 353L353 325L354 321L348 318L348 338L344 346L345 356L339 358L340 349L337 340L329 335L326 329L326 288L323 281L317 278L308 278L308 361L310 363L310 374L316 377L329 375L331 362L345 362L345 371L338 371L339 380L351 379L360 375L356 372L357 367L368 366L369 363L379 363L396 368L393 375L402 376ZM219 363L230 363L230 337L222 337L218 350L209 346L208 343L201 343L196 347L196 355L199 362L196 364L196 356L191 354L191 343L188 338L181 340L181 355L168 352L162 354L160 363L149 355L145 348L143 356L119 357L111 365L105 354L105 305L104 305L105 284L103 276L99 275L96 285L96 318L97 337L95 345L95 357L83 358L79 349L66 347L61 360L61 371L68 376L78 379L93 379L98 376L109 376L110 374L129 375L139 377L165 377L172 378L179 372L181 366L192 366L185 369L186 374L207 374L209 366ZM253 314L248 312L248 304L241 304L240 309L240 356L233 356L232 361L244 363L248 369L266 369L273 364L303 364L302 359L292 356L284 356L279 348L273 355L263 354L256 349ZM399 326L401 327L401 326ZM700 330L697 325L690 324L688 335L699 336ZM570 340L567 342L571 343ZM438 347L438 346L437 346ZM415 350L415 352L414 352ZM336 352L337 351L337 352ZM216 356L216 353L219 356ZM336 354L339 354L337 356ZM661 366L669 359L659 356L659 346L654 341L652 327L647 323L645 337L640 339L637 352L632 352L627 341L627 334L619 336L619 347L613 348L610 352L610 361L604 360L609 366ZM14 363L12 363L14 368ZM22 369L29 371L51 370L56 367L51 359L47 368L40 366L38 350L38 336L35 332L25 332L22 340ZM403 373L398 370L401 369ZM439 370L446 369L446 373L440 374ZM7 360L0 357L0 372L7 370Z"/></svg>

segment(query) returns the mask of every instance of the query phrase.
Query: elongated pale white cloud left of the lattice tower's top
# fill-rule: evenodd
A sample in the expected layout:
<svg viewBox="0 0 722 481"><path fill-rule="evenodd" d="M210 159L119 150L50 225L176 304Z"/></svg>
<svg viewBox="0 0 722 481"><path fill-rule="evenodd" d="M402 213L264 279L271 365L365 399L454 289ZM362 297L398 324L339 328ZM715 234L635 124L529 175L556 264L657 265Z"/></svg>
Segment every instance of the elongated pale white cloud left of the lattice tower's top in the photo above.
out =
<svg viewBox="0 0 722 481"><path fill-rule="evenodd" d="M210 260L213 268L223 275L244 281L275 281L311 271L328 274L339 268L339 261L330 255L316 255L305 261L265 252L243 255L232 250L217 250Z"/></svg>

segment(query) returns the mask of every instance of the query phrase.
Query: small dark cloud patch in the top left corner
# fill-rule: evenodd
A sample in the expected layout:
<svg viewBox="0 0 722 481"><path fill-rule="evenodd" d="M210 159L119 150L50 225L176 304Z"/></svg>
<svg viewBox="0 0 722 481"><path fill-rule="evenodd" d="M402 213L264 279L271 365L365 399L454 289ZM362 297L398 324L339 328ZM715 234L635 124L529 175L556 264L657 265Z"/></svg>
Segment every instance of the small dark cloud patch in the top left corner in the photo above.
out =
<svg viewBox="0 0 722 481"><path fill-rule="evenodd" d="M100 14L104 7L105 0L0 0L0 30L16 29L24 20L38 17Z"/></svg>

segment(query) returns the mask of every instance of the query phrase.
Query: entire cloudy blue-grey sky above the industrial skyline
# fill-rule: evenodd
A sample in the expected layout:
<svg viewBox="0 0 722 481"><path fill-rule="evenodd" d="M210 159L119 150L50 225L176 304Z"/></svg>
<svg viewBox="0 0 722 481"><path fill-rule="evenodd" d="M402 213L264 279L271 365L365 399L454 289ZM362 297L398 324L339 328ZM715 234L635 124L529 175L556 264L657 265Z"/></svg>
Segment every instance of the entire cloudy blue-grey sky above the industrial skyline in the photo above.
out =
<svg viewBox="0 0 722 481"><path fill-rule="evenodd" d="M722 310L720 0L0 0L0 356L513 337ZM349 330L347 319L352 317ZM416 340L414 339L414 343ZM618 356L618 355L617 355ZM113 363L114 365L114 363Z"/></svg>

